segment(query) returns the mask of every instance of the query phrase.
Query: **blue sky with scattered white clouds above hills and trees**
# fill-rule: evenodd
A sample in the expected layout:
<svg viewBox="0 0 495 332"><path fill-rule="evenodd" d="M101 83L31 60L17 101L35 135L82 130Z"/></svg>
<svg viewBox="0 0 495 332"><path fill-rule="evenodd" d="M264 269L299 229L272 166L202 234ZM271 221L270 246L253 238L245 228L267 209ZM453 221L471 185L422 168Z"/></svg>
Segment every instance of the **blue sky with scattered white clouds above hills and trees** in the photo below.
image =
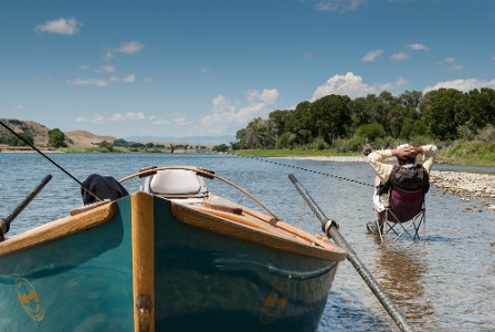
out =
<svg viewBox="0 0 495 332"><path fill-rule="evenodd" d="M328 94L495 89L494 0L6 0L0 118L235 136Z"/></svg>

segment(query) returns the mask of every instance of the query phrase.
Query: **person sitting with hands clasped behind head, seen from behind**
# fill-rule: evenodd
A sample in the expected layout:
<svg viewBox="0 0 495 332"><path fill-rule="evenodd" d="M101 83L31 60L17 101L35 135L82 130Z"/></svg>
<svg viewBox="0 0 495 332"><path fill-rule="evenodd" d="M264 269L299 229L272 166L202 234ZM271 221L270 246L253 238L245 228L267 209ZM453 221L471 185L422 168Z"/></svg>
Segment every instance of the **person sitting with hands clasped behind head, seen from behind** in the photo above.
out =
<svg viewBox="0 0 495 332"><path fill-rule="evenodd" d="M434 145L412 146L403 144L394 149L375 151L368 154L368 162L373 167L375 173L375 194L373 209L376 220L380 227L383 227L385 210L389 204L389 188L398 187L407 191L430 188L429 174L433 166L433 160L438 149ZM366 154L366 152L365 152ZM415 157L422 154L423 163L417 164ZM386 164L389 157L397 157L398 165ZM368 231L378 234L376 222L367 224Z"/></svg>

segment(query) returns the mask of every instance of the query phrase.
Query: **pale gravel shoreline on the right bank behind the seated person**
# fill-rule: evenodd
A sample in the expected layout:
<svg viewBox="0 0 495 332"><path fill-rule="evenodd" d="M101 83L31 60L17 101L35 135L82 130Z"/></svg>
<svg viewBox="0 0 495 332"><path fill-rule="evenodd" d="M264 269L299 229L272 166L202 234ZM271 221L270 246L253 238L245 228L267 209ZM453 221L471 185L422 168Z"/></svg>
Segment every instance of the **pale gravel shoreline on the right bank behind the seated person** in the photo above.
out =
<svg viewBox="0 0 495 332"><path fill-rule="evenodd" d="M368 163L365 156L334 156L334 157L282 157L285 159L306 159L337 163ZM482 206L495 211L495 175L464 172L440 172L433 169L430 173L430 183L440 188L444 194L462 196L461 200L468 203L472 197L483 198ZM466 209L467 210L467 209ZM477 208L473 209L478 211Z"/></svg>

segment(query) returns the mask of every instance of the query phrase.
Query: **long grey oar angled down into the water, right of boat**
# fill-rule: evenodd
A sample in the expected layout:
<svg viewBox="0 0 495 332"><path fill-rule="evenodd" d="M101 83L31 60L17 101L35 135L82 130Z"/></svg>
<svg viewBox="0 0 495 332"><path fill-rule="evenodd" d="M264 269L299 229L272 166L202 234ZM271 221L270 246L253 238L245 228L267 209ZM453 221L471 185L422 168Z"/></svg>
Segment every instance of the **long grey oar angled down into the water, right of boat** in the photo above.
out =
<svg viewBox="0 0 495 332"><path fill-rule="evenodd" d="M352 248L349 246L349 243L347 243L346 239L340 235L340 232L337 229L337 222L335 222L331 219L328 219L325 216L322 209L316 205L316 203L313 200L313 198L309 196L306 189L299 184L299 181L296 179L294 175L289 174L288 178L291 179L291 181L294 184L294 186L296 187L297 191L301 194L303 199L306 201L306 204L309 206L309 208L313 210L313 212L322 222L322 228L325 231L325 234L328 237L330 237L338 246L347 250L347 260L349 260L350 263L355 267L356 271L359 273L359 276L361 276L362 280L365 280L365 282L368 284L368 287L375 293L377 299L383 305L385 310L387 310L387 312L393 319L399 329L401 331L412 331L412 329L409 326L408 321L400 312L399 308L397 308L396 304L393 304L393 302L387 295L385 290L378 283L378 281L373 278L371 272L368 271L368 269L359 260L359 258L357 257Z"/></svg>

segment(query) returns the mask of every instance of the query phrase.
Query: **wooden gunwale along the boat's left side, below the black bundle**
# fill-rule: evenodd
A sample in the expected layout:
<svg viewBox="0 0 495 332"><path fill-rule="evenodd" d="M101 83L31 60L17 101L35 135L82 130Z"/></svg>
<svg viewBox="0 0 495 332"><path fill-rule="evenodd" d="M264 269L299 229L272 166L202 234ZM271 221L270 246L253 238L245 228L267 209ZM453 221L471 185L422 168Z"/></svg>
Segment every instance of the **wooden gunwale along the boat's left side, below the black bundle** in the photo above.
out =
<svg viewBox="0 0 495 332"><path fill-rule="evenodd" d="M105 224L114 218L116 211L117 203L112 201L89 211L69 216L23 234L14 235L0 242L0 257Z"/></svg>

